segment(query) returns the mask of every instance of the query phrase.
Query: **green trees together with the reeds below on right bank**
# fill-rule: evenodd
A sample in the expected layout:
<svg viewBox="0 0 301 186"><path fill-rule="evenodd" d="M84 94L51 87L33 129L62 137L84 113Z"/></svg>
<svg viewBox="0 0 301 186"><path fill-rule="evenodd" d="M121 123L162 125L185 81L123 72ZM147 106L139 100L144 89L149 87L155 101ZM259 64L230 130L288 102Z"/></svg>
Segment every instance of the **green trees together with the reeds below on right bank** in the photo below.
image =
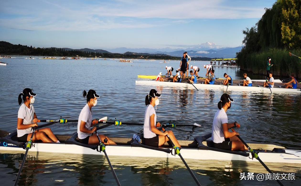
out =
<svg viewBox="0 0 301 186"><path fill-rule="evenodd" d="M301 55L301 1L278 0L255 26L243 31L244 47L237 53L240 69L255 74L265 74L267 57L272 58L271 72L278 76L294 74L301 77L298 58Z"/></svg>

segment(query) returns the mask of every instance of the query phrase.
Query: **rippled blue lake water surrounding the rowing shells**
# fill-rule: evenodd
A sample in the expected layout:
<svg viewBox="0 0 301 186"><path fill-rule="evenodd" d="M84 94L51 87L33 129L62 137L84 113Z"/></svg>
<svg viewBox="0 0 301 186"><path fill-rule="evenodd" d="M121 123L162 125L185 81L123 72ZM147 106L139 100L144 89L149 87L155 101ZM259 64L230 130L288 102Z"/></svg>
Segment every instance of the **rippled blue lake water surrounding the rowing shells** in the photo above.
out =
<svg viewBox="0 0 301 186"><path fill-rule="evenodd" d="M177 124L201 124L202 127L172 129L178 139L194 139L211 132L214 114L222 90L194 90L179 87L136 85L137 75L166 74L165 66L178 68L179 61L134 60L120 63L117 60L51 60L51 59L1 59L10 63L0 66L0 129L13 132L17 127L18 95L28 87L37 94L34 103L39 119L64 117L78 119L86 104L83 90L94 89L101 98L93 110L93 117L107 116L122 122L143 123L144 99L151 88L162 94L157 106L157 121L169 120ZM209 62L195 61L192 65L203 66ZM199 75L206 71L200 68ZM226 72L232 78L242 79L238 68L215 68L216 76ZM174 71L175 73L175 71ZM250 78L253 78L250 76ZM255 77L254 77L255 78ZM275 143L291 149L301 149L301 96L298 94L228 92L234 99L228 110L229 122L237 121L237 131L248 142ZM76 132L77 123L55 124L56 134ZM108 127L102 133L108 136L132 137L141 132L142 126L122 125ZM10 152L11 153L11 152ZM120 152L122 153L122 152ZM0 181L12 185L16 178L23 154L0 154ZM194 180L181 160L160 158L112 157L111 162L122 185L193 185ZM275 181L241 181L240 172L266 173L258 163L193 161L189 166L202 185L275 185ZM286 185L300 185L301 168L295 165L268 164L272 171L294 172L295 181ZM115 185L107 161L103 156L31 153L29 150L20 185Z"/></svg>

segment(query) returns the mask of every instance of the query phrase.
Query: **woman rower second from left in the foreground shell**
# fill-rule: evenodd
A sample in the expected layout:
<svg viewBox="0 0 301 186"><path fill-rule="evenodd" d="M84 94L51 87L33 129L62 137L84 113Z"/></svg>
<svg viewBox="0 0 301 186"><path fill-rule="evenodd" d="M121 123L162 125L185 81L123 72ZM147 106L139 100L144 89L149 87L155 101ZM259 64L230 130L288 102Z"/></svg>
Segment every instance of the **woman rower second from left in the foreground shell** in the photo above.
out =
<svg viewBox="0 0 301 186"><path fill-rule="evenodd" d="M92 120L92 107L96 106L97 98L99 98L99 96L96 94L95 90L89 90L88 93L84 90L82 96L87 97L87 104L84 106L84 108L82 108L82 111L80 112L78 117L78 139L79 142L84 144L97 145L99 144L99 141L97 135L94 133L96 127L93 126L98 123L98 120ZM93 127L92 130L90 130L91 127ZM99 134L99 138L105 145L116 145L115 142L113 142L103 134Z"/></svg>

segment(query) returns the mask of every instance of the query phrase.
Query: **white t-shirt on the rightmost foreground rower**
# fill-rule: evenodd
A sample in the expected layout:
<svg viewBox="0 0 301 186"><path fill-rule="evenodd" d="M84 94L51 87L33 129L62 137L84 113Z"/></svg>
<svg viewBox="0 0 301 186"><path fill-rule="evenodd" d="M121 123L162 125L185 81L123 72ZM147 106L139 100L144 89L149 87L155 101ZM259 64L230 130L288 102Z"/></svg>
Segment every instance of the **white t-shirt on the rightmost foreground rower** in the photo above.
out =
<svg viewBox="0 0 301 186"><path fill-rule="evenodd" d="M212 141L214 143L222 143L225 141L222 127L223 123L228 123L228 116L222 108L216 112L212 123Z"/></svg>

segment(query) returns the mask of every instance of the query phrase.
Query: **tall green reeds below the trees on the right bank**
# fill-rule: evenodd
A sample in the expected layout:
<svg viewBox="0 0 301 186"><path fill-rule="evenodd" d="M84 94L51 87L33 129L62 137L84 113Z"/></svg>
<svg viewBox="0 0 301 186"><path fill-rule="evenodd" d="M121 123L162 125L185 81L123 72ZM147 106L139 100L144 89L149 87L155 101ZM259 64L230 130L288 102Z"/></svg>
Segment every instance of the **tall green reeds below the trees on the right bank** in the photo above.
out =
<svg viewBox="0 0 301 186"><path fill-rule="evenodd" d="M237 55L237 65L246 72L265 75L267 58L270 56L271 62L274 64L270 70L273 75L289 77L290 74L294 74L295 77L301 78L301 59L290 56L289 52L301 56L301 50L272 48L259 53L239 53Z"/></svg>

